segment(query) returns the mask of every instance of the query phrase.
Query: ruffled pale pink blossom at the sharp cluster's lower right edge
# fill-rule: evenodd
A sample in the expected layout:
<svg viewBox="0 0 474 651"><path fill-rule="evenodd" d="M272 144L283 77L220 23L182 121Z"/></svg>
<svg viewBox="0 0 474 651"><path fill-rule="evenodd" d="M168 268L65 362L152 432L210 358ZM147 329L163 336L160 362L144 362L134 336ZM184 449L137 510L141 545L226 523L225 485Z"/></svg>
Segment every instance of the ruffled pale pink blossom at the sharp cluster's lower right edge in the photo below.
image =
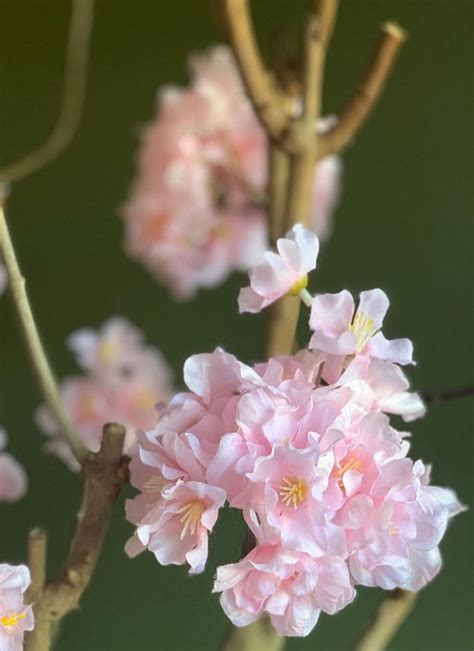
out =
<svg viewBox="0 0 474 651"><path fill-rule="evenodd" d="M428 486L417 461L395 459L372 486L365 516L347 532L356 582L420 590L441 567L438 544L448 520L464 510L453 491Z"/></svg>

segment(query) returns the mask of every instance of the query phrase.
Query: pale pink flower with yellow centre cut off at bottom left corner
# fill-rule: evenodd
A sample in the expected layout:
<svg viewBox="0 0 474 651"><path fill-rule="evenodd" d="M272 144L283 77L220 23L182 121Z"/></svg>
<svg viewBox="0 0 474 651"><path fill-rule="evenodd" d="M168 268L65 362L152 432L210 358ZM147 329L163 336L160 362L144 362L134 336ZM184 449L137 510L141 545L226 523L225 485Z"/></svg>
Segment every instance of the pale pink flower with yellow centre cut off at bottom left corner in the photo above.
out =
<svg viewBox="0 0 474 651"><path fill-rule="evenodd" d="M25 565L0 564L0 649L22 651L25 631L34 628L33 608L23 603L31 583Z"/></svg>

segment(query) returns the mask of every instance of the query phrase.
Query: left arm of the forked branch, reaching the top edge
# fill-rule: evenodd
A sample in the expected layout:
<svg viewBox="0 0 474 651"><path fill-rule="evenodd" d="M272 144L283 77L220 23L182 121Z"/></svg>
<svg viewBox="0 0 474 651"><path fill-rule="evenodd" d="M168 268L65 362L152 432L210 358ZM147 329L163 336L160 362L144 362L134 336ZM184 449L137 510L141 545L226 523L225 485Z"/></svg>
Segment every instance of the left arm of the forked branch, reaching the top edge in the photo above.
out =
<svg viewBox="0 0 474 651"><path fill-rule="evenodd" d="M247 93L268 135L279 140L288 116L279 91L266 69L255 38L248 0L221 0L223 20Z"/></svg>

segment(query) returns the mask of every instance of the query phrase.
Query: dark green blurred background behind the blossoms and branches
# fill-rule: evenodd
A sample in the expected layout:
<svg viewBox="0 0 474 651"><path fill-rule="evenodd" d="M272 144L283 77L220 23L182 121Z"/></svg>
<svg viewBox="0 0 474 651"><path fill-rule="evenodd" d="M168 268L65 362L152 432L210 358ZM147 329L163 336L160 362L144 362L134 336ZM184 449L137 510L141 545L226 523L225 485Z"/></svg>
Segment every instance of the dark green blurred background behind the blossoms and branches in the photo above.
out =
<svg viewBox="0 0 474 651"><path fill-rule="evenodd" d="M296 35L303 0L254 0L257 27L271 50L281 29ZM418 389L472 380L472 27L462 0L346 0L331 45L325 111L337 111L360 77L381 20L410 32L380 105L345 155L336 230L321 256L318 289L383 287L392 300L389 336L415 342ZM0 161L39 144L52 127L62 88L69 3L1 0ZM85 113L69 149L18 183L9 217L35 312L60 376L74 371L68 333L123 314L146 332L179 378L191 353L223 345L242 359L261 355L262 320L238 316L241 278L173 303L121 249L117 208L127 195L137 132L154 109L156 89L186 81L185 61L222 39L205 0L98 0ZM11 306L0 300L0 423L27 467L30 490L0 506L0 559L25 558L28 528L50 535L55 572L74 525L80 482L41 454L32 423L40 396L25 360ZM434 481L472 495L472 399L433 406L414 423L413 454L434 463ZM210 650L226 620L210 594L217 564L238 557L242 526L227 512L211 542L209 570L130 561L131 527L123 504L81 611L64 623L62 651ZM442 544L445 567L424 591L391 645L397 650L472 648L472 529L456 518ZM344 650L381 597L360 589L343 613L322 616L307 639L288 649Z"/></svg>

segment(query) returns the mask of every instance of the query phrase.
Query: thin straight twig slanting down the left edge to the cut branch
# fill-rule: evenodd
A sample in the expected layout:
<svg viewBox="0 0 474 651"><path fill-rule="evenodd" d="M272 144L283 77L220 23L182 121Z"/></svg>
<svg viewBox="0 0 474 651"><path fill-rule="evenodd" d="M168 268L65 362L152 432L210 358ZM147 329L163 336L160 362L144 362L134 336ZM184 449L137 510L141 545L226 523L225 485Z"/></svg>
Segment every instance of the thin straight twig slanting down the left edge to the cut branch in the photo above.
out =
<svg viewBox="0 0 474 651"><path fill-rule="evenodd" d="M3 205L0 202L0 250L8 274L9 288L13 304L20 322L21 331L28 350L31 366L51 413L57 420L64 438L71 446L74 456L82 463L87 450L77 435L59 395L58 384L49 364L45 349L38 333L30 301L26 292L25 279L16 258L15 249L8 230Z"/></svg>

